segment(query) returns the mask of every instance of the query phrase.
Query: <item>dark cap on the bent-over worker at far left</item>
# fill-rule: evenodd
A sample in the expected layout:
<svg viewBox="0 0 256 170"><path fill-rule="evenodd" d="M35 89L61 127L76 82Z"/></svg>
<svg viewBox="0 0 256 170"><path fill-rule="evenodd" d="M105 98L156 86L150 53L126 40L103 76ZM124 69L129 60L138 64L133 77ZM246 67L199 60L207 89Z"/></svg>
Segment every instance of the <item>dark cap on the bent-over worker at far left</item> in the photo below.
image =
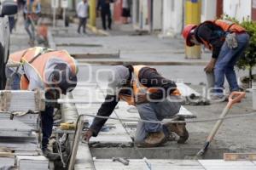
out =
<svg viewBox="0 0 256 170"><path fill-rule="evenodd" d="M61 88L62 94L73 91L77 86L78 78L66 64L57 64L53 71L55 86Z"/></svg>

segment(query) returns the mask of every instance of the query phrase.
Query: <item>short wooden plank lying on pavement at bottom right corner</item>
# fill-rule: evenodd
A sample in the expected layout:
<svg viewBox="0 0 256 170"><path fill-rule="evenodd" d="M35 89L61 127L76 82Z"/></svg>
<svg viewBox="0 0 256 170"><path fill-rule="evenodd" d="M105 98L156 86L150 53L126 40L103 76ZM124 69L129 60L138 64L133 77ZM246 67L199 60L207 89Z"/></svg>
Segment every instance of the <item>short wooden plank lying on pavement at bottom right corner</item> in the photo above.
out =
<svg viewBox="0 0 256 170"><path fill-rule="evenodd" d="M224 153L224 161L256 161L256 153Z"/></svg>

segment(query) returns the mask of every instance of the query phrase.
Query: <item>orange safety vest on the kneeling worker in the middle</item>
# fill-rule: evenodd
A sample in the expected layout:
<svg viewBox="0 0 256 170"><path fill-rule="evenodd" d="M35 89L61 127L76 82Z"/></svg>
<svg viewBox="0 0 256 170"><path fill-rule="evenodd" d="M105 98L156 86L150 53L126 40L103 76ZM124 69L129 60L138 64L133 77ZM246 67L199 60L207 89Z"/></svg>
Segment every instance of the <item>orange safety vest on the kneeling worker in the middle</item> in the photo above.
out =
<svg viewBox="0 0 256 170"><path fill-rule="evenodd" d="M132 93L130 95L119 94L119 99L122 99L128 103L128 105L136 105L135 99L137 94L153 94L158 91L158 88L148 88L143 86L139 82L139 71L146 65L134 65L133 66L133 81L132 81ZM175 90L174 95L180 95L178 90Z"/></svg>

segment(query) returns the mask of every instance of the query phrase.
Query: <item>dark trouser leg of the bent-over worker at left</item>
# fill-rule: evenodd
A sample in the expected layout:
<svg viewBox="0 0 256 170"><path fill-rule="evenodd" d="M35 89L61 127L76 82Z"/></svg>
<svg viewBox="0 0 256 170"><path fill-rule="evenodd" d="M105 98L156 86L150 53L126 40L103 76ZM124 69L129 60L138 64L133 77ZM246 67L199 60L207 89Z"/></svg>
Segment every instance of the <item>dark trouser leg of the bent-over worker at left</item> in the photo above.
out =
<svg viewBox="0 0 256 170"><path fill-rule="evenodd" d="M41 112L41 121L42 121L42 133L43 133L43 139L42 139L42 150L45 150L47 148L47 144L49 143L49 137L52 133L52 127L53 127L53 112L54 107L53 106L46 106L45 111Z"/></svg>

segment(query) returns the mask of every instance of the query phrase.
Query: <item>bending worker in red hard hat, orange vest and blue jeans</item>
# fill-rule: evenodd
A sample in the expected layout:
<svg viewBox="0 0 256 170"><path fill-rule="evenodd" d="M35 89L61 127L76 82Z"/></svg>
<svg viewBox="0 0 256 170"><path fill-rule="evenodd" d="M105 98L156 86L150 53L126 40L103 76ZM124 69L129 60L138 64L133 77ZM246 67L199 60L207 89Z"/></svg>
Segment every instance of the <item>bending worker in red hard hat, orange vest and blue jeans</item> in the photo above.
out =
<svg viewBox="0 0 256 170"><path fill-rule="evenodd" d="M212 100L223 101L224 77L230 85L230 92L239 91L234 66L249 42L247 31L229 20L207 20L199 26L188 25L183 29L186 45L203 44L212 50L212 59L205 67L207 73L214 72ZM211 85L210 85L211 86Z"/></svg>

